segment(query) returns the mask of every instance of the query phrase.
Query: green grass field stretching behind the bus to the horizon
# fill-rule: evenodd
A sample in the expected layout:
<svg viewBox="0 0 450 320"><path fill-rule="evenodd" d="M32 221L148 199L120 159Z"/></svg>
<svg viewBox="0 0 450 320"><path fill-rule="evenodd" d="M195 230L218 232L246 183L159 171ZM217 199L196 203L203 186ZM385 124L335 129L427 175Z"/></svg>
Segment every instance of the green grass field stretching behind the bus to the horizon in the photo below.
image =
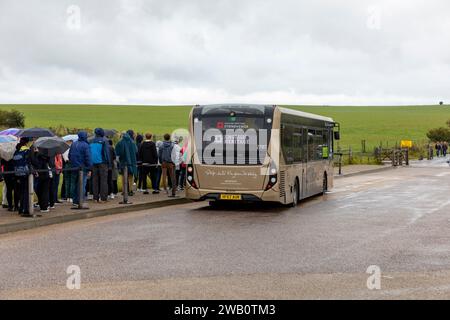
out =
<svg viewBox="0 0 450 320"><path fill-rule="evenodd" d="M450 106L333 107L289 106L325 115L341 124L341 147L361 148L366 140L371 150L380 142L393 146L401 139L425 142L430 128L445 126ZM186 128L190 107L187 106L104 106L104 105L0 105L16 109L26 116L27 127L114 128L134 129L162 135Z"/></svg>

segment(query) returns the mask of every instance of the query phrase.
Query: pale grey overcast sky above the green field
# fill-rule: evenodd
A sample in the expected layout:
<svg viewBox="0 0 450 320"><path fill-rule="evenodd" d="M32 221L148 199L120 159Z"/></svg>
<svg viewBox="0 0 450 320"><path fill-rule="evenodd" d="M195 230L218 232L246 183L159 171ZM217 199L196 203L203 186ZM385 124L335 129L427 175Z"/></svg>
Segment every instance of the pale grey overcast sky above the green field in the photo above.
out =
<svg viewBox="0 0 450 320"><path fill-rule="evenodd" d="M0 103L450 102L449 1L0 0Z"/></svg>

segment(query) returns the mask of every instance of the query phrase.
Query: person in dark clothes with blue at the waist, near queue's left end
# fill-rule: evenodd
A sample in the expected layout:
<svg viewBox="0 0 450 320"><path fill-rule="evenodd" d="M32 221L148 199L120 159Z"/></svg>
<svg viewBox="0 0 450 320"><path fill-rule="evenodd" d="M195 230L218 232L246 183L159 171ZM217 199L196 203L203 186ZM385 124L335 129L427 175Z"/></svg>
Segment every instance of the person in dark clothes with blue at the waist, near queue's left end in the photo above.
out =
<svg viewBox="0 0 450 320"><path fill-rule="evenodd" d="M29 139L21 138L16 147L13 157L15 171L15 190L14 196L18 196L19 214L23 217L30 217L28 175L31 172L31 155L28 146ZM15 200L15 201L17 201Z"/></svg>

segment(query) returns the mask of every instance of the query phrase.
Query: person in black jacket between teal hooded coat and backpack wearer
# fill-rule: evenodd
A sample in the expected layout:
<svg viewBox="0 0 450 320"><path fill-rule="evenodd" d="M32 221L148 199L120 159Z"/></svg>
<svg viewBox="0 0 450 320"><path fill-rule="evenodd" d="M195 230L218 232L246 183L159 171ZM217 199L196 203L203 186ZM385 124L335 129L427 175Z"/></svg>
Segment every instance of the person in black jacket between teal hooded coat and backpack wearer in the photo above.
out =
<svg viewBox="0 0 450 320"><path fill-rule="evenodd" d="M159 193L156 186L156 166L158 165L158 152L156 144L152 141L152 134L145 134L145 140L138 150L139 159L142 161L142 187L144 194L148 194L147 177L150 175L152 182L153 194Z"/></svg>

